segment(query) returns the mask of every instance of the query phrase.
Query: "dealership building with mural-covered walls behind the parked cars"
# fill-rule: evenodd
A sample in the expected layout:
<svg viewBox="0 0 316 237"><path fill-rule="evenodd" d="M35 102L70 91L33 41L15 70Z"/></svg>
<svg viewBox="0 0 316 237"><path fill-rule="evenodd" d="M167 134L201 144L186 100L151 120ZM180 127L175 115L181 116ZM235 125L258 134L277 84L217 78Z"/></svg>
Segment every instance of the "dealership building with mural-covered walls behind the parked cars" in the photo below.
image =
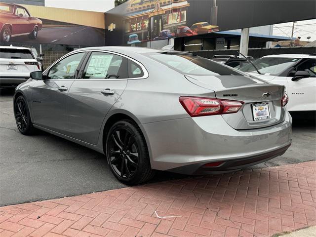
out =
<svg viewBox="0 0 316 237"><path fill-rule="evenodd" d="M273 36L274 24L316 18L313 0L301 0L300 4L291 0L128 0L106 12L101 7L101 12L86 11L93 0L81 10L53 7L51 0L2 2L21 4L30 17L42 22L42 29L37 39L29 39L29 32L23 32L12 34L9 41L1 40L0 44L35 47L45 55L44 66L87 46L161 48L172 44L175 50L207 51L208 56L236 54L237 50L247 53L248 48L269 48L272 41L295 40ZM12 24L6 16L0 8L0 26ZM28 18L20 18L24 17ZM299 50L313 53L315 47Z"/></svg>

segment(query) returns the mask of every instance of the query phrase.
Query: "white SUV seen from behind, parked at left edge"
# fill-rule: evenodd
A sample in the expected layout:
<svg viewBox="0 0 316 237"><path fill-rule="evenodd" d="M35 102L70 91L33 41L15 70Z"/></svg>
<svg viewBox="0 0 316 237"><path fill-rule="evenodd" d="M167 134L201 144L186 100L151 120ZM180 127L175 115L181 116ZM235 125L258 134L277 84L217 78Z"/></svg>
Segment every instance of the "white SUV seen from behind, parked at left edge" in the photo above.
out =
<svg viewBox="0 0 316 237"><path fill-rule="evenodd" d="M0 87L16 87L40 71L30 48L0 46Z"/></svg>

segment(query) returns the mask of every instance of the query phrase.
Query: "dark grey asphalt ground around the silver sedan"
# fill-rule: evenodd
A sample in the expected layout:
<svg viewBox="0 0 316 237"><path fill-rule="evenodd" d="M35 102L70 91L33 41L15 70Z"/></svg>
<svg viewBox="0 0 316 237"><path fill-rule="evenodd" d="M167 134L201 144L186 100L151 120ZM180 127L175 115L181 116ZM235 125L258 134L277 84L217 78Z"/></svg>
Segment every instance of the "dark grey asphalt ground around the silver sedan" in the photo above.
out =
<svg viewBox="0 0 316 237"><path fill-rule="evenodd" d="M0 206L125 187L105 157L46 132L24 136L13 116L14 90L0 90ZM316 158L315 116L295 115L292 146L283 156L251 169ZM188 177L158 172L151 182Z"/></svg>

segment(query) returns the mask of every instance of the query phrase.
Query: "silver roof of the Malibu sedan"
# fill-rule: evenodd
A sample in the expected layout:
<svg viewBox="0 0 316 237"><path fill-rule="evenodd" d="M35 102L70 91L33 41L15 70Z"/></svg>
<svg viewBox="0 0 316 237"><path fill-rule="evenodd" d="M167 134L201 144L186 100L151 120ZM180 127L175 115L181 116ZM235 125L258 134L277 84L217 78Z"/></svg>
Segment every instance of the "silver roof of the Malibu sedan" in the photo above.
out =
<svg viewBox="0 0 316 237"><path fill-rule="evenodd" d="M131 47L131 46L102 46L102 47L88 47L88 48L80 48L75 51L83 51L83 50L107 50L113 51L122 54L128 53L161 53L164 50L152 49L146 47Z"/></svg>

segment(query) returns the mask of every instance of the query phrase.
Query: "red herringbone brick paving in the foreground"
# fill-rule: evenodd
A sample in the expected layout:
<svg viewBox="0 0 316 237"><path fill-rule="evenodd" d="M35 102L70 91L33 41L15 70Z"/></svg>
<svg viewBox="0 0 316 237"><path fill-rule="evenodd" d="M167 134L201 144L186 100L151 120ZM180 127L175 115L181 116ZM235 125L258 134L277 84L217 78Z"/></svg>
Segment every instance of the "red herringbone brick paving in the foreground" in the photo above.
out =
<svg viewBox="0 0 316 237"><path fill-rule="evenodd" d="M308 225L316 161L0 207L0 237L264 237Z"/></svg>

